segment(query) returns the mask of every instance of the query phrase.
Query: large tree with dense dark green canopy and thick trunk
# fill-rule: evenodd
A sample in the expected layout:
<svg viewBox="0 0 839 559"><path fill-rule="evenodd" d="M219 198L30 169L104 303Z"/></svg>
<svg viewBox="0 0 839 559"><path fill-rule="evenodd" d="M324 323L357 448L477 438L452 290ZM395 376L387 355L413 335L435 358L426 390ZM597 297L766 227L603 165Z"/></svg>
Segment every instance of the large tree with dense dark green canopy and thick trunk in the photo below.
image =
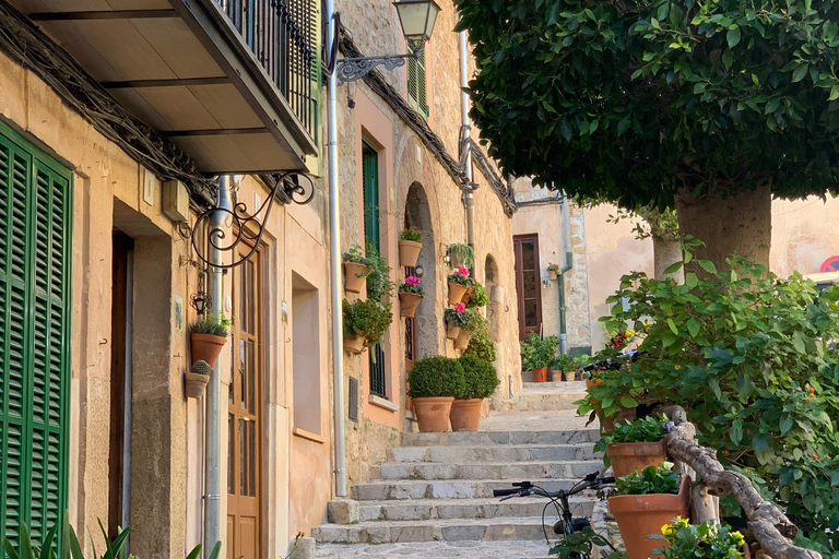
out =
<svg viewBox="0 0 839 559"><path fill-rule="evenodd" d="M839 8L825 0L454 0L471 116L505 173L676 207L698 258L768 264L771 197L837 193Z"/></svg>

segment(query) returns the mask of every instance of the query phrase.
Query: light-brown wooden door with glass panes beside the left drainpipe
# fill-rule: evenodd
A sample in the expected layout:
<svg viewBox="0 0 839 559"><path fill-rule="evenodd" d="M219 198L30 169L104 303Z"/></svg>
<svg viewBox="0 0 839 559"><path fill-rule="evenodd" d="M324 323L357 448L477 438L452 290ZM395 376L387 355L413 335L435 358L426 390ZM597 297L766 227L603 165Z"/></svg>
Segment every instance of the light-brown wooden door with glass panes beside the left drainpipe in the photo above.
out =
<svg viewBox="0 0 839 559"><path fill-rule="evenodd" d="M244 248L247 253L250 249ZM244 254L243 254L244 255ZM227 558L261 559L262 358L259 252L233 273L227 402Z"/></svg>

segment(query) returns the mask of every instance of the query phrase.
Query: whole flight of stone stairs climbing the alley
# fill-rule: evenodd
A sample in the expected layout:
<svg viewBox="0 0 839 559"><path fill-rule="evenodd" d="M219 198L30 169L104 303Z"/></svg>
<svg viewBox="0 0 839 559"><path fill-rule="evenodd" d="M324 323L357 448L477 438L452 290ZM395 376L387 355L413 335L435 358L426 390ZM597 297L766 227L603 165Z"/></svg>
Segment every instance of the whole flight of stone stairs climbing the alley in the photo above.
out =
<svg viewBox="0 0 839 559"><path fill-rule="evenodd" d="M330 524L312 531L316 557L546 557L547 500L499 502L493 490L521 480L557 490L602 471L598 430L570 404L583 390L527 383L511 409L493 413L478 432L405 433L373 479L353 487L353 501L331 503ZM592 496L571 502L575 514L591 515Z"/></svg>

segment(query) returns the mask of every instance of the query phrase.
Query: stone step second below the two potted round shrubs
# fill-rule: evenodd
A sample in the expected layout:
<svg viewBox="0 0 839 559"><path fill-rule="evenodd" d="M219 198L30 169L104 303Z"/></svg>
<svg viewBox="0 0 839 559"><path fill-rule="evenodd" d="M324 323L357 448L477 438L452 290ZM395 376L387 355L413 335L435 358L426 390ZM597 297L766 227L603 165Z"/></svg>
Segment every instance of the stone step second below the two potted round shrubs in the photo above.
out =
<svg viewBox="0 0 839 559"><path fill-rule="evenodd" d="M593 460L591 442L579 444L473 444L469 447L397 447L388 450L390 462L519 462Z"/></svg>

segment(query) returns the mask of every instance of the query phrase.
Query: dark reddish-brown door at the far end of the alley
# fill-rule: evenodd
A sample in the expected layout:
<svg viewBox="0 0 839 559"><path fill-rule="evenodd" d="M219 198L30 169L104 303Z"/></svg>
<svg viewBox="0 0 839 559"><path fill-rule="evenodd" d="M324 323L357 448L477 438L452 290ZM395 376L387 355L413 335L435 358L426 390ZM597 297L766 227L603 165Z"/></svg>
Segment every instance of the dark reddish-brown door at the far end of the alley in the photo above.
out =
<svg viewBox="0 0 839 559"><path fill-rule="evenodd" d="M539 267L539 237L515 237L516 292L519 297L519 340L542 330L542 278Z"/></svg>

